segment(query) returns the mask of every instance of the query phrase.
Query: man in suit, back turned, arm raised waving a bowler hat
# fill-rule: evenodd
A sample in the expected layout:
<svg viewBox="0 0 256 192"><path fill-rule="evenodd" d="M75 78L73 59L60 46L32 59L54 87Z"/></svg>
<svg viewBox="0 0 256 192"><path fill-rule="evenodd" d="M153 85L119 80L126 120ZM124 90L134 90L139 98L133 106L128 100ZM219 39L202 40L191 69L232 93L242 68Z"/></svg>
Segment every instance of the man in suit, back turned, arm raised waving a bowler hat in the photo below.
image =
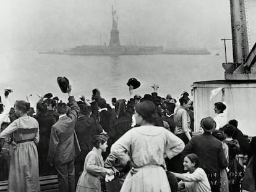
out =
<svg viewBox="0 0 256 192"><path fill-rule="evenodd" d="M67 116L67 105L59 103L57 111L59 120L51 128L49 141L48 162L54 165L58 172L59 191L75 191L75 120L79 113L79 106L74 96L70 95L71 86L67 88L70 111Z"/></svg>

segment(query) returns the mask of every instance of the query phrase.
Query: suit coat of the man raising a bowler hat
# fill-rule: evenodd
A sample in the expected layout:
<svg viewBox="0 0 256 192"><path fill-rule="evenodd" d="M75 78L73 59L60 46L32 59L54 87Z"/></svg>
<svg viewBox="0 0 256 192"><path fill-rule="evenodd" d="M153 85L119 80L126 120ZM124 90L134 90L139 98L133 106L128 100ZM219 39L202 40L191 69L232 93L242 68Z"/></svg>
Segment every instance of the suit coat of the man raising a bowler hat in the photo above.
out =
<svg viewBox="0 0 256 192"><path fill-rule="evenodd" d="M69 104L69 115L59 118L51 128L47 158L49 164L65 164L75 158L74 130L79 106L74 96L69 97Z"/></svg>

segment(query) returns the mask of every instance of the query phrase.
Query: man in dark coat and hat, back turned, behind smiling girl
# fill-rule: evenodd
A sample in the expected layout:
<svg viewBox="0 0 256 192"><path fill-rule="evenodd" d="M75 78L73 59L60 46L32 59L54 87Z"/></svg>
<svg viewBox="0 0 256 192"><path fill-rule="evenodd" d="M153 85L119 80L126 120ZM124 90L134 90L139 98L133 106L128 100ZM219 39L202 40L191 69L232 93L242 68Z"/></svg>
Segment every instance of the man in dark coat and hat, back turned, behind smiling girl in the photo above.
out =
<svg viewBox="0 0 256 192"><path fill-rule="evenodd" d="M224 156L221 141L211 135L216 123L211 117L201 120L201 127L205 131L202 135L193 137L185 146L183 156L190 153L197 154L200 167L207 173L212 192L220 191L220 170L228 165Z"/></svg>

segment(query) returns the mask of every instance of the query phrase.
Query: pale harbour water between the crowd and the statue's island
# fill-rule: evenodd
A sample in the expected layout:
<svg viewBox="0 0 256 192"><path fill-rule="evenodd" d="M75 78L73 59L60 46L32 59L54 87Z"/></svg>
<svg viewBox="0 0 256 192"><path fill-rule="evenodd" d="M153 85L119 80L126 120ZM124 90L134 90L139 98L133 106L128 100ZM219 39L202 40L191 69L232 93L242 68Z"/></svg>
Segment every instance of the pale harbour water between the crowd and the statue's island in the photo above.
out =
<svg viewBox="0 0 256 192"><path fill-rule="evenodd" d="M57 77L69 78L72 94L78 99L92 96L92 89L98 88L101 96L111 103L111 98L129 99L126 85L130 77L141 82L134 94L143 96L151 93L153 83L160 86L158 94L179 96L183 90L191 90L194 81L221 80L224 69L221 63L224 56L201 55L148 55L148 56L69 56L38 54L36 51L1 52L0 92L11 86L15 99L25 99L33 94L36 102L39 94L53 93L63 101L66 94L61 93Z"/></svg>

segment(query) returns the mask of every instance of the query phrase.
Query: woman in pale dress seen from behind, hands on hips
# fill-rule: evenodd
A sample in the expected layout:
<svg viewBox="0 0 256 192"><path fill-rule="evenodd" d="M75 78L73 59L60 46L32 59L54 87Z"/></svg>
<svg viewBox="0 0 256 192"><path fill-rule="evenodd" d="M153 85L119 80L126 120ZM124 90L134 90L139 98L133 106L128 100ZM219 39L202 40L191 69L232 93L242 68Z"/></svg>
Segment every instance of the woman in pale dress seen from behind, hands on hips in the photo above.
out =
<svg viewBox="0 0 256 192"><path fill-rule="evenodd" d="M156 117L153 102L140 102L135 106L135 120L140 127L127 131L111 147L111 154L121 164L132 166L121 192L171 191L164 158L171 159L182 152L184 143L166 128L154 126Z"/></svg>

